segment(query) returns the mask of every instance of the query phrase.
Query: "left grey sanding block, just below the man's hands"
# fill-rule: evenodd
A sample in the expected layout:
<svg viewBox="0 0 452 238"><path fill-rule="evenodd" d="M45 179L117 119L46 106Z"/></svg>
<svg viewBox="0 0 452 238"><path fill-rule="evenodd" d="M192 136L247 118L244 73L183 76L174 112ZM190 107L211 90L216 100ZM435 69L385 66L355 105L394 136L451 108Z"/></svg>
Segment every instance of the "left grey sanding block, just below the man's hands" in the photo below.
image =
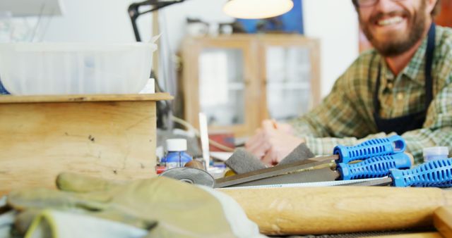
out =
<svg viewBox="0 0 452 238"><path fill-rule="evenodd" d="M261 160L242 148L236 149L225 164L237 175L266 168Z"/></svg>

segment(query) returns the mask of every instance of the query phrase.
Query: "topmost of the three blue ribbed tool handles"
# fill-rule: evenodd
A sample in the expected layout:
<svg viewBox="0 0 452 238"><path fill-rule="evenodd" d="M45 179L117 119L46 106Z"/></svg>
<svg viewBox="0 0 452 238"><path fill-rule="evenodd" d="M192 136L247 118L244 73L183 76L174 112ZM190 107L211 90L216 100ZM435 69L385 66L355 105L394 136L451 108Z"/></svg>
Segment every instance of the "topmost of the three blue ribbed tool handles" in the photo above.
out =
<svg viewBox="0 0 452 238"><path fill-rule="evenodd" d="M369 139L356 146L334 147L333 154L339 155L336 163L349 163L376 156L388 156L405 151L405 139L398 135L381 139Z"/></svg>

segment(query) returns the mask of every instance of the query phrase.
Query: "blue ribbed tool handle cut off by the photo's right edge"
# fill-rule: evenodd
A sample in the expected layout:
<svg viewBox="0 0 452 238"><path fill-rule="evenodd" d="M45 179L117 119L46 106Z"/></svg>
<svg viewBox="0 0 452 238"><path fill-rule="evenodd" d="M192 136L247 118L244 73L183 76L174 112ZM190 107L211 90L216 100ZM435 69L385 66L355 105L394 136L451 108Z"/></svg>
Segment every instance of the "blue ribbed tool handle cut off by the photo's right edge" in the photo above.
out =
<svg viewBox="0 0 452 238"><path fill-rule="evenodd" d="M429 161L410 170L390 170L395 187L452 187L452 158Z"/></svg>

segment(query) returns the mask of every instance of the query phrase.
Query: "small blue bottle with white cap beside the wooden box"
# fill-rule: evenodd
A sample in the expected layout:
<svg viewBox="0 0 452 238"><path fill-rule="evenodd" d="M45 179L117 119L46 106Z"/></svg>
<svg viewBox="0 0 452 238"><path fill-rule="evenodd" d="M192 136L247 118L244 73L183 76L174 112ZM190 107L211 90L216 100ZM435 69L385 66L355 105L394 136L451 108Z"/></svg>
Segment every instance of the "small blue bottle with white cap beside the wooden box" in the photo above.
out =
<svg viewBox="0 0 452 238"><path fill-rule="evenodd" d="M186 154L186 139L167 139L167 154L160 163L166 169L184 167L193 158Z"/></svg>

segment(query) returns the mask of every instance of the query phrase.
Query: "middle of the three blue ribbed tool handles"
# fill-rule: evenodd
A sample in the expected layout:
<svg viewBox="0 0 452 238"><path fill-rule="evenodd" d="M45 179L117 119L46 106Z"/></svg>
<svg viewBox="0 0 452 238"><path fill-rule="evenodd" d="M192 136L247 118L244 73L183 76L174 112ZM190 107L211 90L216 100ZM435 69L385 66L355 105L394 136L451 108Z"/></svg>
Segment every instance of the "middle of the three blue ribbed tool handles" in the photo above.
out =
<svg viewBox="0 0 452 238"><path fill-rule="evenodd" d="M353 164L338 163L340 180L357 180L372 177L384 177L391 168L407 169L411 167L411 159L405 153L391 156L378 156Z"/></svg>

